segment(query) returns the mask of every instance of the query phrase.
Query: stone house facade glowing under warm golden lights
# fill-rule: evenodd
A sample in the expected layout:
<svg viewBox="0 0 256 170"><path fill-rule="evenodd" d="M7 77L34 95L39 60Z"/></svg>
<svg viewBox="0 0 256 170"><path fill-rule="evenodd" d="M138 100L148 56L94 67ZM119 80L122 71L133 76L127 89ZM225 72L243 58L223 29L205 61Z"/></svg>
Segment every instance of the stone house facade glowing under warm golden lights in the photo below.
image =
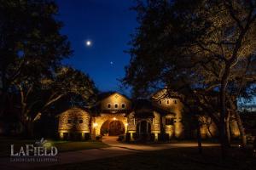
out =
<svg viewBox="0 0 256 170"><path fill-rule="evenodd" d="M60 138L84 139L89 133L92 137L127 133L131 140L141 136L157 140L162 138L160 133L164 133L165 139L182 139L183 105L179 99L162 97L163 93L165 90L153 94L150 99L133 101L119 93L104 94L90 111L79 108L65 111L58 116ZM202 119L209 122L207 117ZM237 126L232 126L233 136L239 136ZM213 122L201 126L202 138L214 137L216 133Z"/></svg>

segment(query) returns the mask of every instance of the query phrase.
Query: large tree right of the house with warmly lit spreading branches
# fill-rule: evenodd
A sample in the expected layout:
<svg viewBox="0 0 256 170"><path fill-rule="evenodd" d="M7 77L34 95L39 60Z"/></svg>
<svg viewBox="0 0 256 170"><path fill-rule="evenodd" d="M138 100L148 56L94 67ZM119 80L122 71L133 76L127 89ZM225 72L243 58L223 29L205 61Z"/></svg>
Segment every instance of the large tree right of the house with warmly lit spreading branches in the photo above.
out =
<svg viewBox="0 0 256 170"><path fill-rule="evenodd" d="M232 87L255 83L255 1L152 0L135 9L140 26L123 82L135 95L167 87L194 99L218 124L224 156L227 96L236 105Z"/></svg>

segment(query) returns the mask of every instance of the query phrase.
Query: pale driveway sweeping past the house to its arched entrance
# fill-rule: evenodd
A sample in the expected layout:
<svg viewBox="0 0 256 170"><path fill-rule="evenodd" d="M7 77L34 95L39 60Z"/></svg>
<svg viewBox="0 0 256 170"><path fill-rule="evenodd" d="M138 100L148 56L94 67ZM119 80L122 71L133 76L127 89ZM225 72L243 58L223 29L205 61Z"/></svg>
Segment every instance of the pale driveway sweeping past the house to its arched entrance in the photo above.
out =
<svg viewBox="0 0 256 170"><path fill-rule="evenodd" d="M11 162L9 157L0 158L1 169L27 169L37 167L48 167L58 164L76 163L81 161L91 161L104 159L113 156L125 156L141 151L166 150L177 147L194 147L196 143L183 144L121 144L117 137L103 137L102 142L110 145L108 148L91 150L77 150L62 152L57 155L55 162ZM203 146L216 146L218 144L203 144Z"/></svg>

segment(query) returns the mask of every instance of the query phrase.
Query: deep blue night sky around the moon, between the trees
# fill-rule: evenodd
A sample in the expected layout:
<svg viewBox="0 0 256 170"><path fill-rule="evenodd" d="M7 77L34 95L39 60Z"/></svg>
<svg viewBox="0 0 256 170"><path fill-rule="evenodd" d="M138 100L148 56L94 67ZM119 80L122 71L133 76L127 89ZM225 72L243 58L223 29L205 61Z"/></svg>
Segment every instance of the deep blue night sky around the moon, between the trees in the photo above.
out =
<svg viewBox="0 0 256 170"><path fill-rule="evenodd" d="M132 0L58 0L61 32L74 50L64 64L88 73L101 91L119 91L117 79L125 76L129 63L131 33L137 27ZM86 41L91 41L90 47ZM125 92L123 92L125 93ZM127 93L127 91L126 91Z"/></svg>

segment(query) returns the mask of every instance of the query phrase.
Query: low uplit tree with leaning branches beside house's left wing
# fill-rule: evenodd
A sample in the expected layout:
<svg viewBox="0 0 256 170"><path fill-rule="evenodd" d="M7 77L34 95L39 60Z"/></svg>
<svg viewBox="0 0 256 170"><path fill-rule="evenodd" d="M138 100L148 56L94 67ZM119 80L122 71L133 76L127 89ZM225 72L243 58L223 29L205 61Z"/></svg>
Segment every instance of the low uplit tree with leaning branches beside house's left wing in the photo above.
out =
<svg viewBox="0 0 256 170"><path fill-rule="evenodd" d="M52 77L44 77L38 82L20 82L16 86L20 91L20 122L29 136L33 135L34 122L42 114L49 113L60 99L76 95L81 97L83 106L92 105L97 92L89 76L71 67L61 67Z"/></svg>

